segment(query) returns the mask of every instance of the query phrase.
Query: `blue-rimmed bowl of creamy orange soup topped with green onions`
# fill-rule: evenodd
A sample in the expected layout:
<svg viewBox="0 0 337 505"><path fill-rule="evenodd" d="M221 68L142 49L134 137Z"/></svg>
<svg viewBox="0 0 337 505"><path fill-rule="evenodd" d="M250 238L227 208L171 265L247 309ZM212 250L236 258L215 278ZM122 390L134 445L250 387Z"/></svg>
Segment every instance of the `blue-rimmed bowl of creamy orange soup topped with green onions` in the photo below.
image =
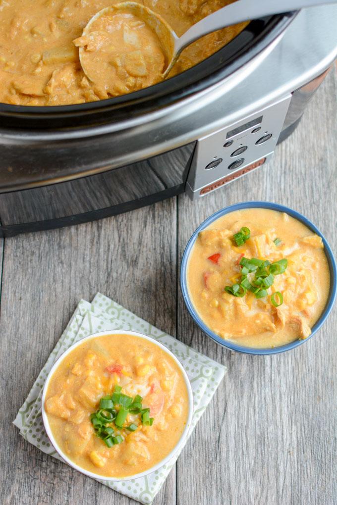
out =
<svg viewBox="0 0 337 505"><path fill-rule="evenodd" d="M321 327L336 296L336 264L307 218L249 201L197 228L180 282L190 315L213 340L239 352L275 354Z"/></svg>

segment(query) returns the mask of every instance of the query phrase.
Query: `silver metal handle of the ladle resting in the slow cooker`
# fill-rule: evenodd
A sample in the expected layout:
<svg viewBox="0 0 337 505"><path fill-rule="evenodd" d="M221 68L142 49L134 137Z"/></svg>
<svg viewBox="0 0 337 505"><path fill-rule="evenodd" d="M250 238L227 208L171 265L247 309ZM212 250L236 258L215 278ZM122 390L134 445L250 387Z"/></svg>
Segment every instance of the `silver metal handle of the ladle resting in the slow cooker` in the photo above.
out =
<svg viewBox="0 0 337 505"><path fill-rule="evenodd" d="M334 4L337 0L236 0L193 25L176 39L175 52L198 40L200 37L229 25L258 19L272 14L297 11L303 7Z"/></svg>

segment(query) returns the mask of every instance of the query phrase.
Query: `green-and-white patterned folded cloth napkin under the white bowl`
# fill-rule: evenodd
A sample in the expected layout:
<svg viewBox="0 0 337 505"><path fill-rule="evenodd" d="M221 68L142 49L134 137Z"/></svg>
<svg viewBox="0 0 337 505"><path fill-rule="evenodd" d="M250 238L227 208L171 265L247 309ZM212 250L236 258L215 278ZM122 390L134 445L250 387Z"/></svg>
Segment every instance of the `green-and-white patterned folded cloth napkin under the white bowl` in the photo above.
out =
<svg viewBox="0 0 337 505"><path fill-rule="evenodd" d="M226 372L222 365L158 330L101 293L94 297L91 304L81 300L14 421L20 429L20 435L28 442L61 461L63 461L62 458L55 451L43 427L41 396L44 381L55 361L71 344L87 335L106 330L134 330L145 333L166 345L179 359L186 370L194 396L194 414L188 436L195 428ZM147 477L120 482L97 480L141 503L152 503L177 458L178 455L175 455L168 464Z"/></svg>

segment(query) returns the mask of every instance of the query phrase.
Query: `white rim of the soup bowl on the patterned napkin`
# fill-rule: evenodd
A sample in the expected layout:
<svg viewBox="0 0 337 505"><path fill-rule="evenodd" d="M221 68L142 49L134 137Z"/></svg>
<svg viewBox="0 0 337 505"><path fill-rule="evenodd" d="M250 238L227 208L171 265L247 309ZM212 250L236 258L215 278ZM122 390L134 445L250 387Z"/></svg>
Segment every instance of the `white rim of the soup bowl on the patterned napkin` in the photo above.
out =
<svg viewBox="0 0 337 505"><path fill-rule="evenodd" d="M187 416L187 422L186 422L186 426L184 428L184 431L182 432L181 437L180 437L178 443L176 444L176 446L171 450L171 452L161 462L157 463L157 465L149 468L149 470L146 470L145 472L140 472L140 473L137 473L137 474L134 474L134 475L128 475L127 477L111 477L111 476L104 476L104 475L100 475L100 474L95 474L93 472L88 472L84 468L76 465L76 463L74 463L73 461L71 461L68 458L68 456L65 455L65 453L62 451L62 449L59 447L58 443L56 442L56 440L55 440L55 438L53 436L51 427L49 425L49 421L48 421L48 418L47 418L47 413L45 412L45 409L44 409L45 396L46 396L46 392L47 392L47 389L48 389L48 386L49 386L49 382L50 382L50 380L51 380L54 372L56 371L56 369L59 367L59 365L63 361L63 359L73 349L75 349L76 347L78 347L79 345L81 345L84 341L90 340L90 339L96 338L96 337L102 337L102 336L105 336L105 335L111 335L111 336L114 336L114 335L133 335L133 336L138 337L138 338L144 338L145 340L150 340L153 344L155 344L158 347L160 347L161 349L163 349L169 356L171 356L171 358L174 360L174 362L176 363L176 365L178 366L178 368L181 370L181 373L182 373L183 378L185 380L185 384L186 384L186 388L187 388L187 393L188 393L188 416ZM93 333L92 335L84 337L81 340L79 340L78 342L76 342L73 345L71 345L69 347L69 349L67 349L63 353L63 355L60 356L60 358L55 362L55 364L53 365L51 371L49 372L49 374L48 374L48 376L46 378L44 387L43 387L41 402L42 402L41 412L42 412L42 419L43 419L43 424L44 424L45 431L46 431L46 433L47 433L50 441L52 442L55 450L59 453L59 455L61 456L61 458L63 458L64 461L66 463L68 463L68 465L70 465L71 467L75 468L75 470L78 470L79 472L83 473L84 475L87 475L88 477L92 477L94 479L100 479L100 480L109 480L109 481L126 481L126 480L131 480L131 479L137 479L138 477L145 477L146 475L149 475L150 473L154 472L155 470L158 470L163 465L165 465L166 463L168 463L171 460L171 458L173 458L173 456L182 449L182 447L183 447L183 445L184 445L184 443L186 441L187 435L188 435L189 427L190 427L191 420L192 420L192 414L193 414L193 394L192 394L191 385L190 385L190 382L189 382L189 379L187 377L187 374L186 374L185 370L183 369L181 363L178 361L178 359L176 358L176 356L174 356L174 354L167 347L165 347L165 345L163 345L160 342L157 342L157 340L155 340L152 337L148 337L147 335L143 335L142 333L138 333L138 332L135 332L135 331L123 331L123 330L100 331L98 333Z"/></svg>

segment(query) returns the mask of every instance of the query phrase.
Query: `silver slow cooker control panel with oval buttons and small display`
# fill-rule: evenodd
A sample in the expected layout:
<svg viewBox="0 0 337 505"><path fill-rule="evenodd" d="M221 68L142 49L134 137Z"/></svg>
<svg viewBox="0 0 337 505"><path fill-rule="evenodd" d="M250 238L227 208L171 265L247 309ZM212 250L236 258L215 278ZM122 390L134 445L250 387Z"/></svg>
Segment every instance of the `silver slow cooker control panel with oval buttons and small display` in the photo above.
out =
<svg viewBox="0 0 337 505"><path fill-rule="evenodd" d="M288 94L265 109L200 138L187 178L189 196L204 196L262 166L273 154L291 98Z"/></svg>

